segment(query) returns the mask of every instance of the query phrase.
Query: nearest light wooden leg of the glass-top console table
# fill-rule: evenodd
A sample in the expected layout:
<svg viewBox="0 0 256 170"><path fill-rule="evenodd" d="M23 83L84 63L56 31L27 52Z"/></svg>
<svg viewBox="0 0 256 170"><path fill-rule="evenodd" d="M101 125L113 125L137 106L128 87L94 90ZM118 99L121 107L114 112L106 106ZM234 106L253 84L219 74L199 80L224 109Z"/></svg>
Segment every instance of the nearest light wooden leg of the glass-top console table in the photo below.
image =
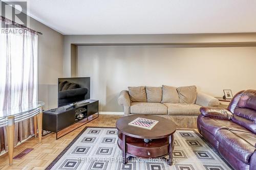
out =
<svg viewBox="0 0 256 170"><path fill-rule="evenodd" d="M9 116L7 126L7 143L8 143L8 155L9 164L12 165L13 149L14 149L14 116Z"/></svg>

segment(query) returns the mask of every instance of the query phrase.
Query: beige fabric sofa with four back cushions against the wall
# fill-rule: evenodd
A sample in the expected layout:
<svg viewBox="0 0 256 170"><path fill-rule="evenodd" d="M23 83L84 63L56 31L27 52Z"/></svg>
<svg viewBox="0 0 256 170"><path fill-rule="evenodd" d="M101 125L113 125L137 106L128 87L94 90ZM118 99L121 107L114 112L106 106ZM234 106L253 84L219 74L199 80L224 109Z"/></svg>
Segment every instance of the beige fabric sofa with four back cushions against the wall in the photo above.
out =
<svg viewBox="0 0 256 170"><path fill-rule="evenodd" d="M197 128L201 106L219 106L220 102L196 86L128 87L119 94L124 115L152 114L172 120L177 127Z"/></svg>

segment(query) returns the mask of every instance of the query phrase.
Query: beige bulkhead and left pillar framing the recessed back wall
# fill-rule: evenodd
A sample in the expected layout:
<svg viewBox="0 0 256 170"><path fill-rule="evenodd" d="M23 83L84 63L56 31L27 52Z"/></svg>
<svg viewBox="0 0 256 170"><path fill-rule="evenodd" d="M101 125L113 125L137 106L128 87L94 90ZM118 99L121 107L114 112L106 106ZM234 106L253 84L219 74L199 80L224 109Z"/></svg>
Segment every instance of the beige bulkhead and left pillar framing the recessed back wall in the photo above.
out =
<svg viewBox="0 0 256 170"><path fill-rule="evenodd" d="M256 46L256 33L233 34L156 34L156 35L65 35L63 42L63 76L72 74L71 44L163 44L205 46ZM72 55L74 56L74 55Z"/></svg>

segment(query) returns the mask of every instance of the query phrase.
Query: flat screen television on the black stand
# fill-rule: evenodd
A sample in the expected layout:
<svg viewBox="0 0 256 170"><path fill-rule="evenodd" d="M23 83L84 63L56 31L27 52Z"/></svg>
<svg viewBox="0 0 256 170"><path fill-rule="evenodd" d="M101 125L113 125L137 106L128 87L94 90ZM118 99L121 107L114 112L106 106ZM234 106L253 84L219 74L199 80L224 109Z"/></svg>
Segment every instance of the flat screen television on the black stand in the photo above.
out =
<svg viewBox="0 0 256 170"><path fill-rule="evenodd" d="M90 99L90 77L58 79L58 107L88 99Z"/></svg>

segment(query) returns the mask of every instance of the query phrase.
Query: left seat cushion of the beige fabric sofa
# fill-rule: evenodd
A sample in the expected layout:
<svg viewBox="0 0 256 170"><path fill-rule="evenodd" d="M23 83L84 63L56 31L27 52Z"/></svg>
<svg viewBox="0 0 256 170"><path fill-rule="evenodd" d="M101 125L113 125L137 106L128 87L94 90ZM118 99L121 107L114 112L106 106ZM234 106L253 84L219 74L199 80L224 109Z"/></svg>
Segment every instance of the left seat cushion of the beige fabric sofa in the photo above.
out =
<svg viewBox="0 0 256 170"><path fill-rule="evenodd" d="M161 103L131 103L131 113L133 114L167 114L167 107Z"/></svg>

